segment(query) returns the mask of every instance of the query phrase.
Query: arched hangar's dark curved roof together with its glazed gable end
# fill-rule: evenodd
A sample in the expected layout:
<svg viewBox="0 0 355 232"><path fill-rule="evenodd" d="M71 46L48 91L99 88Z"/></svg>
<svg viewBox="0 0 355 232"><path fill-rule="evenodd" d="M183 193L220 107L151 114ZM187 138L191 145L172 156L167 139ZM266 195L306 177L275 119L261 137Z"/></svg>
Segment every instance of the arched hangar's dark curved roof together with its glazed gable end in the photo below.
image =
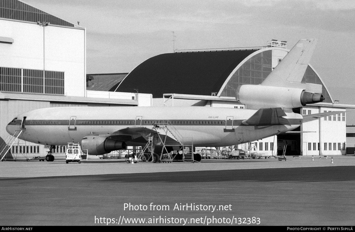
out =
<svg viewBox="0 0 355 232"><path fill-rule="evenodd" d="M133 69L116 92L165 93L234 97L242 84L260 84L289 50L268 47L252 50L166 53L153 56ZM284 55L280 56L280 52ZM302 82L322 84L323 102L333 100L317 72L308 65Z"/></svg>

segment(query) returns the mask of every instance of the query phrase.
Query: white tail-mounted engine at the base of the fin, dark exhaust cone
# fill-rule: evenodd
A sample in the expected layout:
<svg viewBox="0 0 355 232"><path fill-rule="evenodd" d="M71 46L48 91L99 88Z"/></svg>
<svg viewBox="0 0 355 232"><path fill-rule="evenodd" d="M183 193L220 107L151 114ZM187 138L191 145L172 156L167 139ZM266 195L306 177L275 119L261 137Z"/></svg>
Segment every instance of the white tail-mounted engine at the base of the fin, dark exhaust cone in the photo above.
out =
<svg viewBox="0 0 355 232"><path fill-rule="evenodd" d="M310 93L305 89L244 84L236 89L235 99L247 105L248 109L265 107L291 109L322 102L324 97L322 94Z"/></svg>

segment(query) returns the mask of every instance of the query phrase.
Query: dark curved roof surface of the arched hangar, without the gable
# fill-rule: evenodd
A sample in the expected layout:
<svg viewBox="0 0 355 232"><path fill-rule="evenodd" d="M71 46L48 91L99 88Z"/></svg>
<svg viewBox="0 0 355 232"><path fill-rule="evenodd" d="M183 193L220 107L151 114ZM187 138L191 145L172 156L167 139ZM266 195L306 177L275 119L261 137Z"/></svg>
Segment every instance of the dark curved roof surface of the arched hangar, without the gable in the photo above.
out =
<svg viewBox="0 0 355 232"><path fill-rule="evenodd" d="M211 95L218 93L234 68L256 50L165 53L133 69L116 92Z"/></svg>

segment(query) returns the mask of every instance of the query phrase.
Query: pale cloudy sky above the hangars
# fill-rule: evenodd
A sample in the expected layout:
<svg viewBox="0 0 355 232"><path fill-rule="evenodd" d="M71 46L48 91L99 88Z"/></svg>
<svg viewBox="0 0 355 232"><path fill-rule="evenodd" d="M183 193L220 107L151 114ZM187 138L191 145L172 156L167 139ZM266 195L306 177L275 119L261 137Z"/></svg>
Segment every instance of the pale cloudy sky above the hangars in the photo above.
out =
<svg viewBox="0 0 355 232"><path fill-rule="evenodd" d="M299 39L315 38L310 64L334 100L355 104L354 0L24 2L86 28L87 73L130 72L174 49L265 46L271 39L288 41L291 49ZM354 110L347 121L355 125Z"/></svg>

